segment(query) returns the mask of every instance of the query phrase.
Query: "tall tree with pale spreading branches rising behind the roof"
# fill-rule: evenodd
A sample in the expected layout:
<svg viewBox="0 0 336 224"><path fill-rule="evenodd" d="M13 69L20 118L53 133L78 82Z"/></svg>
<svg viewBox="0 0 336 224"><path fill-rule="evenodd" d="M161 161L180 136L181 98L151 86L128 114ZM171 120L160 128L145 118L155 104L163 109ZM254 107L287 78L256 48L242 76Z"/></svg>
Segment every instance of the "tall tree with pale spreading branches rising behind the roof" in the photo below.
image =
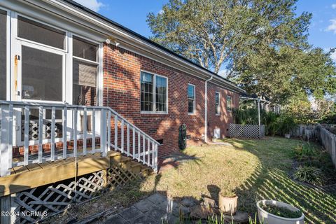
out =
<svg viewBox="0 0 336 224"><path fill-rule="evenodd" d="M218 73L255 46L307 47L311 15L295 18L296 0L170 0L148 14L153 41ZM257 50L258 51L258 50ZM230 74L232 76L232 74Z"/></svg>

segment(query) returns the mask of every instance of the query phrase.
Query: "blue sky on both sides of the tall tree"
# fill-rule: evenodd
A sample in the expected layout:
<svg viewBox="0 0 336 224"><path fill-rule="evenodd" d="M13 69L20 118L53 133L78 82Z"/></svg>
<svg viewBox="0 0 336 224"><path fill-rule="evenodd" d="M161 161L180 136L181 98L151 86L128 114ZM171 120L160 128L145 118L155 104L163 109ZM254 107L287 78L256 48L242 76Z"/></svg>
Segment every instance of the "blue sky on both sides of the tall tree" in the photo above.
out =
<svg viewBox="0 0 336 224"><path fill-rule="evenodd" d="M168 0L76 0L78 3L130 28L143 36L151 36L146 22L150 12L159 13ZM299 0L297 13L313 13L309 27L309 43L328 50L336 48L336 0ZM336 53L332 55L336 61Z"/></svg>

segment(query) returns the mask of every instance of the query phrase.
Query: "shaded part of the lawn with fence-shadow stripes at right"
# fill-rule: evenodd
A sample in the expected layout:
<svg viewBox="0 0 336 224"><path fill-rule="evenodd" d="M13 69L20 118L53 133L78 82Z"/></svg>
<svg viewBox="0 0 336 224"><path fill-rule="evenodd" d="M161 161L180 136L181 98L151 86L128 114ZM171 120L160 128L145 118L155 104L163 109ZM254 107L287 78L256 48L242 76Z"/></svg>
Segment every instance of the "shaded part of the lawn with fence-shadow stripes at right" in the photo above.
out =
<svg viewBox="0 0 336 224"><path fill-rule="evenodd" d="M300 209L307 223L336 223L336 197L321 188L290 179L293 147L300 141L269 138L264 140L227 139L235 148L253 153L260 165L235 192L239 209L253 215L258 200L277 200ZM289 163L289 165L288 165Z"/></svg>

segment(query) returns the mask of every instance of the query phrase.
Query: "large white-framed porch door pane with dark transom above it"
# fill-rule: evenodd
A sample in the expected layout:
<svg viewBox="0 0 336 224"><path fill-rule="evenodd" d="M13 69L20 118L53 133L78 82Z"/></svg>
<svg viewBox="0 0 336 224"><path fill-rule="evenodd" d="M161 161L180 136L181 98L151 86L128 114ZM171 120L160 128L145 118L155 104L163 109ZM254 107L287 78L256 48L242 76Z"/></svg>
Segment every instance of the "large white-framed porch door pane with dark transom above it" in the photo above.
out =
<svg viewBox="0 0 336 224"><path fill-rule="evenodd" d="M65 32L18 15L18 38L21 39L22 99L61 102Z"/></svg>

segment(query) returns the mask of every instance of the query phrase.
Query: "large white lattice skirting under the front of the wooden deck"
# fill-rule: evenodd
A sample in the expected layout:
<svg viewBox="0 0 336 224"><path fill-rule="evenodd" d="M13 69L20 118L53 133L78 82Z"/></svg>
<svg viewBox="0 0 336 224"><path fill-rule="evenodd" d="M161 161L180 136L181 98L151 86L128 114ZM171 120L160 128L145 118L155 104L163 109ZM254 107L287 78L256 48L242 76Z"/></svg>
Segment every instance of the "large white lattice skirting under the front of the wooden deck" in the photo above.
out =
<svg viewBox="0 0 336 224"><path fill-rule="evenodd" d="M104 186L104 172L92 173L90 176L82 176L77 184L72 181L69 184L59 183L56 186L33 188L18 194L15 202L18 207L15 214L24 214L25 212L36 212L48 216L62 211L71 204L71 202L83 202L92 197ZM43 218L43 216L18 216L15 223L32 223Z"/></svg>

